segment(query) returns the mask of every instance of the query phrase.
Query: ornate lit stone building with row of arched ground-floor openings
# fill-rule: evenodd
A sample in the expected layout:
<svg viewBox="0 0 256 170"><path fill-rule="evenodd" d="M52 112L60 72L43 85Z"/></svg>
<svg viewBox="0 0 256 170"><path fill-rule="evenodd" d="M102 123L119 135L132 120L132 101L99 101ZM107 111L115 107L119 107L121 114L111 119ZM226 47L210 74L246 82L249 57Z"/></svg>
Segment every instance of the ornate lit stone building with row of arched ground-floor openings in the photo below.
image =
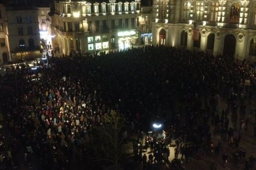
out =
<svg viewBox="0 0 256 170"><path fill-rule="evenodd" d="M153 0L154 45L256 57L256 0Z"/></svg>

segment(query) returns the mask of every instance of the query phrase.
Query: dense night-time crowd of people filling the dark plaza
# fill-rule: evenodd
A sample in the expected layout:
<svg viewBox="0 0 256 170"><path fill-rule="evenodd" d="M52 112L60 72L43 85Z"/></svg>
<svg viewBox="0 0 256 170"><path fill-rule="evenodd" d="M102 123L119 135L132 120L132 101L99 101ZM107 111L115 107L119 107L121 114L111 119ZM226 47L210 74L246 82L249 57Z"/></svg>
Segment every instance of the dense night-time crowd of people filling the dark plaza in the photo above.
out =
<svg viewBox="0 0 256 170"><path fill-rule="evenodd" d="M239 143L256 110L237 120L238 127L229 120L229 115L245 115L255 94L253 63L145 46L93 56L48 57L38 66L32 70L22 64L0 77L9 143L0 161L9 169L69 170L74 160L95 169L96 163L88 161L93 150L87 143L94 128L104 123L102 116L112 110L125 117L123 136L137 135L132 146L137 169L183 170L186 162L205 155L221 157L223 167L233 161L242 163L244 170L254 168L254 157ZM227 108L218 108L219 96ZM151 122L162 122L163 134L148 133ZM212 133L221 139L215 141ZM225 153L223 142L234 148L233 155ZM169 147L175 147L174 156ZM217 167L212 162L209 169Z"/></svg>

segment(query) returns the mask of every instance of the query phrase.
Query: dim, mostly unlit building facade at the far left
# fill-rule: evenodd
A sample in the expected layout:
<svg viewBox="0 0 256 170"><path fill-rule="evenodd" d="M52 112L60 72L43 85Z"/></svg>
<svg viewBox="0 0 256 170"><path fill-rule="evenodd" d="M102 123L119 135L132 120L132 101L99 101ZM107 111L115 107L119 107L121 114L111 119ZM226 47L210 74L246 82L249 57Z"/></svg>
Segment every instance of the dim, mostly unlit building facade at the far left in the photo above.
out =
<svg viewBox="0 0 256 170"><path fill-rule="evenodd" d="M10 50L8 60L40 57L38 9L6 6L6 18Z"/></svg>

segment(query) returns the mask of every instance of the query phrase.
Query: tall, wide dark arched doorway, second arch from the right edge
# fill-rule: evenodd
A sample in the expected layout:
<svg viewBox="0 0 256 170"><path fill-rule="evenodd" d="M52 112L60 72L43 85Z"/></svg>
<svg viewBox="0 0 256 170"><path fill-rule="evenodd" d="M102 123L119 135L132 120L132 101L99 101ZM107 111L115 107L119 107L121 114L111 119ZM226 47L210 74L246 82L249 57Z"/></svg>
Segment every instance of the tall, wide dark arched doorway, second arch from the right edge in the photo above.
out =
<svg viewBox="0 0 256 170"><path fill-rule="evenodd" d="M236 51L236 37L233 34L227 34L224 38L223 55L234 57Z"/></svg>

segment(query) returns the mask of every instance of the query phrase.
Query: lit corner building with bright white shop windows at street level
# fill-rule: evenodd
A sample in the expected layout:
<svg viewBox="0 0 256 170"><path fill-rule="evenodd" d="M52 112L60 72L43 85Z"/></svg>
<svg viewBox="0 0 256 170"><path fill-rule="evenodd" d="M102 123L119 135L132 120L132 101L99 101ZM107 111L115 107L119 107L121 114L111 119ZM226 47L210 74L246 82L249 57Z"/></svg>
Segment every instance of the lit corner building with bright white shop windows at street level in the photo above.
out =
<svg viewBox="0 0 256 170"><path fill-rule="evenodd" d="M58 0L53 17L62 54L120 50L141 40L140 0Z"/></svg>

